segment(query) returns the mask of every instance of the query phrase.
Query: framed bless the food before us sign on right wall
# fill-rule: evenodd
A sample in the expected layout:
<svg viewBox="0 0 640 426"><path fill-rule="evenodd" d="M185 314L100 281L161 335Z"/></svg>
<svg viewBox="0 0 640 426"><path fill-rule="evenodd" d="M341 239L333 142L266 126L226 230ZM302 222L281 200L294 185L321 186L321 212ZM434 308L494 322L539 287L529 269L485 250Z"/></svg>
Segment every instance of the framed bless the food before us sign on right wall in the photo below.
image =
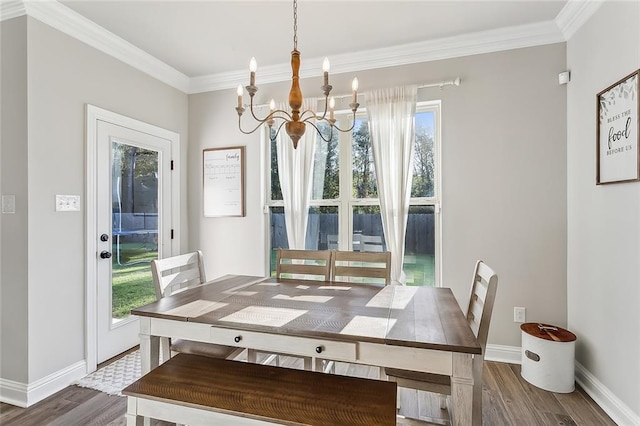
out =
<svg viewBox="0 0 640 426"><path fill-rule="evenodd" d="M597 185L640 180L638 73L597 95Z"/></svg>

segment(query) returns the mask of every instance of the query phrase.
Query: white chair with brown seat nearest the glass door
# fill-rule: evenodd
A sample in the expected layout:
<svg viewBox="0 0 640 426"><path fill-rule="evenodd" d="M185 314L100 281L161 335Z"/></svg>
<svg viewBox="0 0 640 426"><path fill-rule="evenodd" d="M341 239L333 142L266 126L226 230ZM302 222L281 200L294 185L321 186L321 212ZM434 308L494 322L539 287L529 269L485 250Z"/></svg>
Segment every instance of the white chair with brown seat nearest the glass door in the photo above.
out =
<svg viewBox="0 0 640 426"><path fill-rule="evenodd" d="M151 275L153 276L157 300L199 286L207 281L203 256L200 250L152 260ZM172 353L177 352L213 358L235 358L243 351L243 349L234 346L184 339L169 339L168 337L161 339L161 347L164 361L168 360Z"/></svg>

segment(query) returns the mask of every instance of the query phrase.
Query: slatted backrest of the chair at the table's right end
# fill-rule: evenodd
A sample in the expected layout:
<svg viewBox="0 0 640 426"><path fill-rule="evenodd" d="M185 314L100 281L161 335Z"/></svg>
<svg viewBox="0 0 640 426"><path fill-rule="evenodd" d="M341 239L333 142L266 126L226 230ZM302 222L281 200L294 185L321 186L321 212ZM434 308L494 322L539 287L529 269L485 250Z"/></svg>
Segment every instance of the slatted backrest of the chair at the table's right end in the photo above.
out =
<svg viewBox="0 0 640 426"><path fill-rule="evenodd" d="M489 335L493 302L498 288L498 275L482 260L476 262L467 308L467 321L482 346L484 354Z"/></svg>

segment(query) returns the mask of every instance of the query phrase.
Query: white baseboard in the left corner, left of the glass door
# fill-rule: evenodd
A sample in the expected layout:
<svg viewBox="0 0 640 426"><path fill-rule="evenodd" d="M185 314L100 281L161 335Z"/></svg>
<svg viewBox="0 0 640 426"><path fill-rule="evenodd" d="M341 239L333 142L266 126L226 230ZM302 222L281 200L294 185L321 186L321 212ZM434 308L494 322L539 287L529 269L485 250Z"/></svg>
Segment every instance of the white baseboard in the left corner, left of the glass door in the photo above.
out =
<svg viewBox="0 0 640 426"><path fill-rule="evenodd" d="M26 408L73 384L87 374L87 363L79 361L25 384L0 378L0 402Z"/></svg>

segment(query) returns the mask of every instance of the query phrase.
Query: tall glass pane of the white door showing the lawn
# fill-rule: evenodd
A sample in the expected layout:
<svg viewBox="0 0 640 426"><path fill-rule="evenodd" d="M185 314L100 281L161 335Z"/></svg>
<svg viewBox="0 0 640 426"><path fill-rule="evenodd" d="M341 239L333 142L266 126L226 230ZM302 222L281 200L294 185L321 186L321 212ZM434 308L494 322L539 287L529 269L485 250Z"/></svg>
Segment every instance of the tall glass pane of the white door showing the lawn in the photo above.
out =
<svg viewBox="0 0 640 426"><path fill-rule="evenodd" d="M150 262L158 258L158 153L112 144L112 321L153 302Z"/></svg>

